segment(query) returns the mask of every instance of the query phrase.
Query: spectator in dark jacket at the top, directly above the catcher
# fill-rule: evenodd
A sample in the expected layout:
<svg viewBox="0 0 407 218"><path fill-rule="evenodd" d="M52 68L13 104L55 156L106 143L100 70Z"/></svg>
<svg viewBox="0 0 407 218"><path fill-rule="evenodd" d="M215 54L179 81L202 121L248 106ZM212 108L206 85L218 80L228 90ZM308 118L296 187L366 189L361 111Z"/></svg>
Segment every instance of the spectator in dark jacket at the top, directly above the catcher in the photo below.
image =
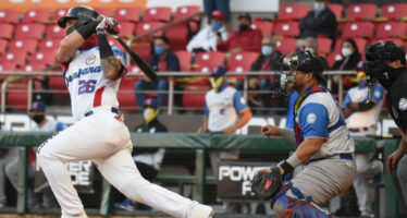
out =
<svg viewBox="0 0 407 218"><path fill-rule="evenodd" d="M299 22L299 38L325 36L335 40L336 17L326 7L328 0L316 0L313 10Z"/></svg>

